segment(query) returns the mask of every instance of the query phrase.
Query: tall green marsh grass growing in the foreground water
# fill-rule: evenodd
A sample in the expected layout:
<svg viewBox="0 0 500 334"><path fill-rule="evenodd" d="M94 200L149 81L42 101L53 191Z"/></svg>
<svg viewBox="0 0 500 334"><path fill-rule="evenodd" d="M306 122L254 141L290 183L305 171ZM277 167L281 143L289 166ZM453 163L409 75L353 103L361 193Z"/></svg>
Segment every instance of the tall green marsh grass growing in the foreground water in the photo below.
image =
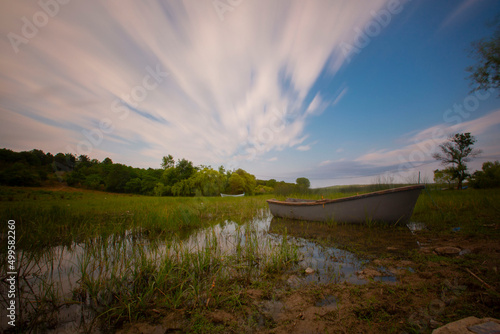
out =
<svg viewBox="0 0 500 334"><path fill-rule="evenodd" d="M99 238L78 256L80 296L109 327L154 316L152 309L239 308L241 289L297 262L285 238L263 240L252 224L196 242ZM83 298L82 298L83 296Z"/></svg>

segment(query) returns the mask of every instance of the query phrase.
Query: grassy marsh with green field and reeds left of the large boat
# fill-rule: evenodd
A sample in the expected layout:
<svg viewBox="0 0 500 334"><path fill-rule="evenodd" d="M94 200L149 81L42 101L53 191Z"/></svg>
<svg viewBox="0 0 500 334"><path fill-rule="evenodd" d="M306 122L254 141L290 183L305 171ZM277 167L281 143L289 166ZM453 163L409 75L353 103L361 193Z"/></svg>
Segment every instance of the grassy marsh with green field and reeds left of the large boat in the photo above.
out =
<svg viewBox="0 0 500 334"><path fill-rule="evenodd" d="M298 258L286 236L263 238L252 223L267 215L263 197L1 191L2 217L16 221L22 331L56 327L58 311L70 305L92 315L81 324L89 331L162 309L237 309L242 288ZM223 233L221 222L235 233ZM188 237L201 228L195 241Z"/></svg>

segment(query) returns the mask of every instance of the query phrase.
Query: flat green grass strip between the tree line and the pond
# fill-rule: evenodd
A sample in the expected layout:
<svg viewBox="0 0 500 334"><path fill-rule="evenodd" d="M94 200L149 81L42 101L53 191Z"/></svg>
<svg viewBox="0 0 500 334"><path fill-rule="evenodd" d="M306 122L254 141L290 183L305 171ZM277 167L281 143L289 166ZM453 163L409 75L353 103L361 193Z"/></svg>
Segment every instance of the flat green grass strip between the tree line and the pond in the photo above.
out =
<svg viewBox="0 0 500 334"><path fill-rule="evenodd" d="M8 187L0 188L0 199L2 220L16 221L17 249L71 245L128 230L151 238L185 236L224 220L247 221L267 207L264 197L148 197ZM6 233L6 225L0 232Z"/></svg>

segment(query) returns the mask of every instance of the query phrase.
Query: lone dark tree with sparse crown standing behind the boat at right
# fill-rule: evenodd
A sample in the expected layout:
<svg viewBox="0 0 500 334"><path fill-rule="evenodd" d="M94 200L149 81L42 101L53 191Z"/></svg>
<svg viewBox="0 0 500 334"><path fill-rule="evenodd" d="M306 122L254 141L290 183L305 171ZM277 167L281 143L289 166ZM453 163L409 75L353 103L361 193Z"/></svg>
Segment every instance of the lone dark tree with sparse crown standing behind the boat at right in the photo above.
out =
<svg viewBox="0 0 500 334"><path fill-rule="evenodd" d="M439 145L441 153L434 153L434 159L441 161L448 167L453 179L458 181L457 189L462 189L463 180L469 176L466 163L481 154L481 150L473 149L476 142L474 136L467 133L456 133L448 138L448 141Z"/></svg>

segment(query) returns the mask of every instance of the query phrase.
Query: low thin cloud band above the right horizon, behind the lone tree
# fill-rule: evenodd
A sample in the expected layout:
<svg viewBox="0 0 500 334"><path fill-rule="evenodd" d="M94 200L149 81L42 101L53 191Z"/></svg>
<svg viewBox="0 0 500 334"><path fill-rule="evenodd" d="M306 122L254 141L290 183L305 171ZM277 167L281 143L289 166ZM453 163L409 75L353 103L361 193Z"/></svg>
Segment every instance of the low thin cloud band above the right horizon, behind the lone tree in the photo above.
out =
<svg viewBox="0 0 500 334"><path fill-rule="evenodd" d="M432 180L433 170L440 168L432 153L439 150L439 144L449 135L463 132L471 132L478 139L476 146L483 150L483 154L471 163L470 169L480 169L482 162L500 158L499 128L500 110L497 110L468 122L439 124L405 135L397 140L400 143L397 148L365 153L355 159L324 160L313 169L294 175L308 175L316 187L333 183L369 183L381 175L394 177L394 182L407 182L418 172L422 172L422 178Z"/></svg>

